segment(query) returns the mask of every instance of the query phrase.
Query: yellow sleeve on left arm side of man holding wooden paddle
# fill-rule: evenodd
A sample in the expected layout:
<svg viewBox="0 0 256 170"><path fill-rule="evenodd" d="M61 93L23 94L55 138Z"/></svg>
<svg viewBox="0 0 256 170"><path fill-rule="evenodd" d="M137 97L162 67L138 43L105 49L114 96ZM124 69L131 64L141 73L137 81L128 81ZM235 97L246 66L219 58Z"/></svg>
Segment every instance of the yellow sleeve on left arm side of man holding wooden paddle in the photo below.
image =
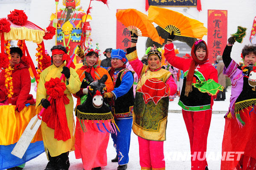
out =
<svg viewBox="0 0 256 170"><path fill-rule="evenodd" d="M39 106L39 104L41 103L41 100L43 98L47 98L46 89L44 87L46 75L47 75L47 70L44 70L40 74L40 79L38 82L38 87L37 87L37 92L36 92L36 103L35 103L36 107Z"/></svg>

